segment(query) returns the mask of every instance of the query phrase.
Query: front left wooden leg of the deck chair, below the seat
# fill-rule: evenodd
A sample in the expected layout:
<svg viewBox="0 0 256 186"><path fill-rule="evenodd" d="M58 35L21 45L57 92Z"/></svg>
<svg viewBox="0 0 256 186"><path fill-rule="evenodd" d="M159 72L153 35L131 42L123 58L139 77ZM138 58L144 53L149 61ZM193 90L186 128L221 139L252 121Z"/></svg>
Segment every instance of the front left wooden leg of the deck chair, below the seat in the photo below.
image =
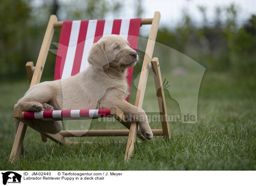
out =
<svg viewBox="0 0 256 186"><path fill-rule="evenodd" d="M27 128L27 125L25 125L23 122L20 122L17 130L17 134L15 136L15 140L12 146L12 152L9 158L9 163L13 163L15 160L19 158L20 152L22 149L24 152L23 139L26 134L26 128Z"/></svg>

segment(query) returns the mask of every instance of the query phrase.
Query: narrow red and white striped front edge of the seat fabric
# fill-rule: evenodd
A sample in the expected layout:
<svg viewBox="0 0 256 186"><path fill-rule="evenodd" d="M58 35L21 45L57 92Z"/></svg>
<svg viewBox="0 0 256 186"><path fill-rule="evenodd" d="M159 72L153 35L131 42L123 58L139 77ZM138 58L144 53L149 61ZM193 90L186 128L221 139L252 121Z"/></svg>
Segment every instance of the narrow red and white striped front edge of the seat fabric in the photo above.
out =
<svg viewBox="0 0 256 186"><path fill-rule="evenodd" d="M110 109L90 110L45 110L39 112L24 112L24 119L85 119L110 117Z"/></svg>

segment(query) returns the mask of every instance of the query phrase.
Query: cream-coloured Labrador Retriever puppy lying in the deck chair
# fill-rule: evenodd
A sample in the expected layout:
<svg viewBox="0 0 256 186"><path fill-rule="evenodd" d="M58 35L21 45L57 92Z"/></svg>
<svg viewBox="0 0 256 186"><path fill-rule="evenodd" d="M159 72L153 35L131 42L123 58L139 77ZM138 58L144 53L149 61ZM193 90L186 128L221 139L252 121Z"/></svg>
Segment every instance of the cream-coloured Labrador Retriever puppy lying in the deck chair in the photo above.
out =
<svg viewBox="0 0 256 186"><path fill-rule="evenodd" d="M138 61L137 52L119 35L106 35L93 44L88 55L91 64L69 78L45 81L29 88L15 108L23 111L120 108L139 124L146 139L153 133L143 109L125 101L128 92L126 73ZM15 119L17 131L19 121ZM58 133L61 121L34 120L34 127L44 133Z"/></svg>

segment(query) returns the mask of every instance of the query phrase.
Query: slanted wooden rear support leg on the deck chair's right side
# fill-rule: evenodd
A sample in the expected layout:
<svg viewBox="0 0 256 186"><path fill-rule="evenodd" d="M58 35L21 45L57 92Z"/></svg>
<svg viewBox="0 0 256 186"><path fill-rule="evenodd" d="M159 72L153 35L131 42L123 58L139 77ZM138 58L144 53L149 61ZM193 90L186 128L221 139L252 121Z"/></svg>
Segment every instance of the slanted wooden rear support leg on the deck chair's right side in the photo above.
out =
<svg viewBox="0 0 256 186"><path fill-rule="evenodd" d="M170 134L170 126L168 122L168 116L167 116L167 109L166 109L166 101L163 91L163 82L162 82L162 76L160 72L160 65L158 58L152 58L151 61L152 64L152 70L154 73L154 82L155 87L157 91L157 101L159 106L160 115L163 116L162 122L162 128L163 128L163 136L167 139L171 138Z"/></svg>

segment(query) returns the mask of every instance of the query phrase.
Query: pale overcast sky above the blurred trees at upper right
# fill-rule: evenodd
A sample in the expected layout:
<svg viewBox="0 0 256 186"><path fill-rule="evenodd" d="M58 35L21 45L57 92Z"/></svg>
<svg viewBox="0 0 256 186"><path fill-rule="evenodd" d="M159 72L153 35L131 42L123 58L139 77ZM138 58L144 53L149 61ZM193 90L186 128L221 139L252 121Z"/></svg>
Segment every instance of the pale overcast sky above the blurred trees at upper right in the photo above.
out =
<svg viewBox="0 0 256 186"><path fill-rule="evenodd" d="M124 2L121 17L128 18L131 12L134 14L135 11L131 8L133 3L134 0ZM240 24L247 20L250 15L256 15L256 0L142 0L143 17L153 17L154 12L159 11L161 13L160 26L175 27L180 23L185 11L192 17L195 24L201 24L203 19L198 6L204 6L207 19L211 23L214 21L215 8L219 6L224 9L231 3L239 8L237 19ZM225 19L225 15L221 15L221 18Z"/></svg>

